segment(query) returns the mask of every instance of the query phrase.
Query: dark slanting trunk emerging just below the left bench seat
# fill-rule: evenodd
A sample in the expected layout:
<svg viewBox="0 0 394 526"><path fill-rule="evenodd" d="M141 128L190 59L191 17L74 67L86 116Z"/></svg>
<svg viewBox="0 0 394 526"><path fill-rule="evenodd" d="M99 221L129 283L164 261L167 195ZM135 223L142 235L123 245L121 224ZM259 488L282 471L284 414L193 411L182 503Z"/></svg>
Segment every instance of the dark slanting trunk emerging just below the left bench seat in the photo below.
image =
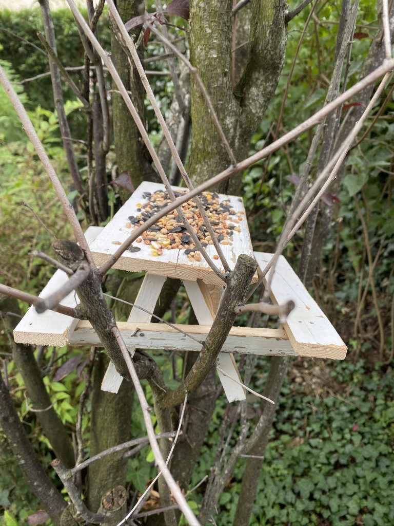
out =
<svg viewBox="0 0 394 526"><path fill-rule="evenodd" d="M20 345L20 343L15 343L12 336L18 318L7 315L7 312L20 314L18 302L13 298L6 298L0 302L0 309L4 312L3 316L12 345L13 358L22 375L33 408L43 409L42 412L35 413L37 420L42 426L46 438L53 447L56 457L58 457L67 468L72 468L75 464L72 443L55 409L50 407L50 398L42 379L42 371L38 367L34 357L33 349L25 345Z"/></svg>

